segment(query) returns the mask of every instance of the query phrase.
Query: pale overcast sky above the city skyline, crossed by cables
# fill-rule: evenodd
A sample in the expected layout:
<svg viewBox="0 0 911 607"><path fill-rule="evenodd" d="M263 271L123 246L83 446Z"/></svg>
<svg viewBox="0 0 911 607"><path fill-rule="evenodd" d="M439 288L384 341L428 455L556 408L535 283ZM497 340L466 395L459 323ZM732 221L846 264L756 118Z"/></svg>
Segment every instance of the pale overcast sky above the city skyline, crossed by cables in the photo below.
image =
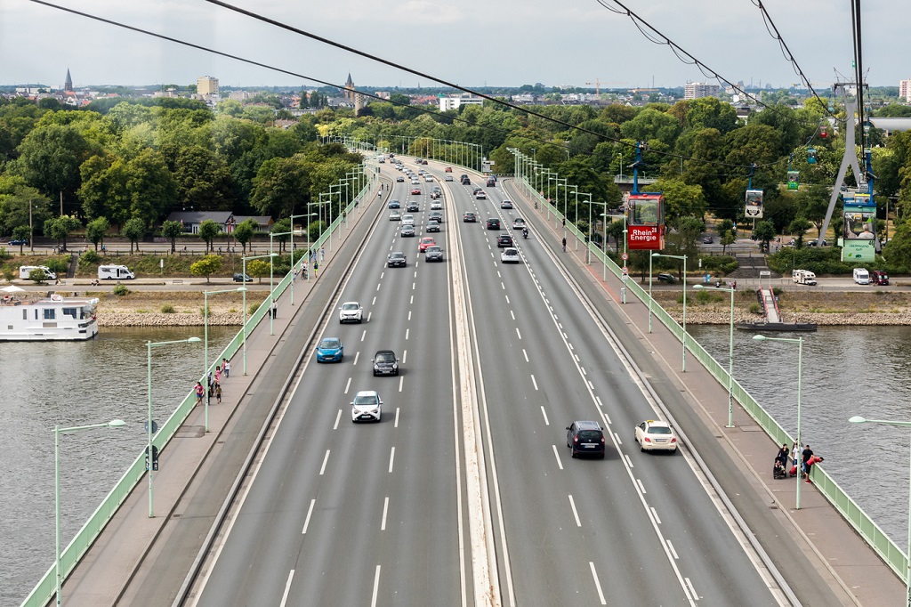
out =
<svg viewBox="0 0 911 607"><path fill-rule="evenodd" d="M434 87L427 78L269 26L203 0L49 0L201 46L342 85ZM799 78L751 0L621 0L734 82ZM616 6L611 0L604 4ZM705 81L629 17L596 0L235 0L232 4L466 87L680 87ZM804 73L826 87L852 74L850 0L767 0ZM911 3L862 5L864 67L873 86L911 77ZM903 59L902 57L906 57ZM314 87L312 81L128 32L28 0L0 0L0 84L160 85L213 76L221 86Z"/></svg>

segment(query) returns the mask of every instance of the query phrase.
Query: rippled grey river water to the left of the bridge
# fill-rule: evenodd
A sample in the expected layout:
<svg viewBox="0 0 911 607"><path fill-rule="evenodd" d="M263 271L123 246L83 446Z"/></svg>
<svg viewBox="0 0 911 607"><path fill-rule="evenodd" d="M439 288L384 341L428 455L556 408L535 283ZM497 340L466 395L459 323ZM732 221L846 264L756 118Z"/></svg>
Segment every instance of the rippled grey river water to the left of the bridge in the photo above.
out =
<svg viewBox="0 0 911 607"><path fill-rule="evenodd" d="M210 327L218 355L239 327ZM145 448L146 342L202 327L104 328L89 342L0 343L0 604L18 605L54 562L54 427L123 419L60 437L61 545L72 540ZM163 423L203 369L202 344L152 349L152 417ZM230 389L230 384L226 386Z"/></svg>

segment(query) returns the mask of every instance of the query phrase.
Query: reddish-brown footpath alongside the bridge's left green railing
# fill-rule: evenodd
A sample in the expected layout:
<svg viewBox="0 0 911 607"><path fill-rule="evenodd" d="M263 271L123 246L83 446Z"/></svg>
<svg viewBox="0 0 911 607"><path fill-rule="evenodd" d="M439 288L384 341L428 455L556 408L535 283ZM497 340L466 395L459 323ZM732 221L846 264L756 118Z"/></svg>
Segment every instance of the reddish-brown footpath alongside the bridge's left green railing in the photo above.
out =
<svg viewBox="0 0 911 607"><path fill-rule="evenodd" d="M384 193L388 196L388 184ZM236 414L250 400L247 396L260 392L261 383L268 381L260 371L277 354L277 346L283 341L289 327L295 323L298 313L305 308L312 290L319 284L323 268L331 267L354 227L363 219L370 221L372 212L367 210L372 202L373 200L366 201L361 205L361 211L349 215L351 225L343 227L333 238L333 247L326 247L316 275L311 274L309 281L298 278L294 284L294 305L289 287L276 300L278 311L271 321L271 327L267 314L247 335L246 355L239 350L230 360L230 377L222 378L221 404L216 405L214 398L210 401L209 432L205 432L205 407L197 406L167 448L161 451L160 469L154 473L151 485L154 518L149 517L152 509L149 484L141 482L68 577L63 587L63 598L67 605L98 607L142 602L131 596L132 591L128 587L141 584L137 578L148 571L147 561L159 557L168 558L167 555L159 554L160 544L164 542L157 543L157 540L170 532L169 520L179 517L181 509L186 508L181 502L189 499L186 494L194 479L204 474L210 466L207 458L220 449L220 443L225 441L226 436L230 436L232 425L237 423ZM210 352L210 355L214 357L218 353ZM173 589L173 592L176 591L176 588Z"/></svg>

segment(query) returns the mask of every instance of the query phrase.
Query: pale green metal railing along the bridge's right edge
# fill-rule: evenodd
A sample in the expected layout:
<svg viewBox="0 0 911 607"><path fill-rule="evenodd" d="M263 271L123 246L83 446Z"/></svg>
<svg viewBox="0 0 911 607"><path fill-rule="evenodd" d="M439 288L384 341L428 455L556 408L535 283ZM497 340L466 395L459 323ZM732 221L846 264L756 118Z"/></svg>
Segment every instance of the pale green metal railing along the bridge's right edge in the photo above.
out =
<svg viewBox="0 0 911 607"><path fill-rule="evenodd" d="M541 196L535 189L532 187L531 183L528 182L524 177L519 180L518 185L524 187L527 190L527 196L529 196L537 205L542 209L549 209L550 212L557 214L558 211L556 207L552 204L548 204L548 201ZM560 216L562 219L562 216ZM572 225L567 221L567 230L572 231L574 234L580 235L581 240L584 242L584 235L581 234L576 229L576 226ZM592 257L598 259L601 263L606 263L609 271L613 273L616 277L620 278L622 275L622 269L617 263L610 259L606 250L599 249L594 242L588 243L589 249L591 251ZM607 243L605 243L605 249L607 248ZM626 288L634 293L642 302L642 304L649 305L649 293L643 289L640 284L635 281L627 280ZM683 327L677 323L670 314L660 306L654 300L651 301L651 314L654 314L655 317L664 324L670 331L674 334L677 339L681 340L681 343L684 339ZM716 361L705 348L697 342L690 334L686 334L686 349L692 353L693 356L711 373L715 379L722 386L728 385L728 371L722 366L718 361ZM763 406L756 401L755 398L747 392L746 388L738 383L736 378L732 378L732 395L741 404L743 409L750 415L750 417L755 420L755 422L763 428L765 433L772 438L773 443L776 445L781 445L783 443L793 444L794 438L791 437L781 427L774 417L769 414L768 411L763 409ZM894 540L891 540L886 534L885 531L880 529L880 527L875 523L873 519L867 515L867 513L858 506L851 497L845 493L844 489L839 487L838 483L830 477L821 466L814 466L813 469L813 481L816 486L816 489L823 494L824 498L829 501L834 506L834 509L838 511L839 514L844 517L844 520L848 521L855 531L865 540L865 542L875 550L875 552L880 556L880 558L885 561L885 564L889 566L892 571L901 580L905 580L905 572L907 567L908 556L905 552L898 547Z"/></svg>

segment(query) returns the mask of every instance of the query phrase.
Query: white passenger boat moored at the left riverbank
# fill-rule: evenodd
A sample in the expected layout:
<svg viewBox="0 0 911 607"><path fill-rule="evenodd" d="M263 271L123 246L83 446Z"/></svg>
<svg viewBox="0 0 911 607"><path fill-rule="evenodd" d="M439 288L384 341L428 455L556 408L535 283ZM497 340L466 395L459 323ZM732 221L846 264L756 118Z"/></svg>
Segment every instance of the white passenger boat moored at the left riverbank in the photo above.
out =
<svg viewBox="0 0 911 607"><path fill-rule="evenodd" d="M98 333L96 297L46 297L0 289L0 341L54 342L91 339Z"/></svg>

